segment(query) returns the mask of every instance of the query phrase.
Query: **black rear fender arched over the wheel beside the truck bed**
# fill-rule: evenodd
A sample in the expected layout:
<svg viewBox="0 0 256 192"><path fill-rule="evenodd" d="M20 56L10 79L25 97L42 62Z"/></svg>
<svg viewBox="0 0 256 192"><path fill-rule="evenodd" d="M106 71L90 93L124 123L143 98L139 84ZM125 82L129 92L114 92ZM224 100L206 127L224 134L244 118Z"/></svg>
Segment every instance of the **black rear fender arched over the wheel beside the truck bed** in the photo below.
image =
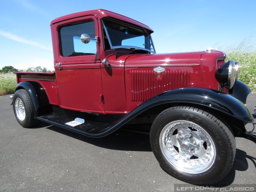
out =
<svg viewBox="0 0 256 192"><path fill-rule="evenodd" d="M33 104L35 118L38 115L38 109L40 107L50 104L46 91L44 90L44 87L38 82L34 82L34 81L20 82L16 86L16 90L19 90L19 89L25 89L28 92Z"/></svg>

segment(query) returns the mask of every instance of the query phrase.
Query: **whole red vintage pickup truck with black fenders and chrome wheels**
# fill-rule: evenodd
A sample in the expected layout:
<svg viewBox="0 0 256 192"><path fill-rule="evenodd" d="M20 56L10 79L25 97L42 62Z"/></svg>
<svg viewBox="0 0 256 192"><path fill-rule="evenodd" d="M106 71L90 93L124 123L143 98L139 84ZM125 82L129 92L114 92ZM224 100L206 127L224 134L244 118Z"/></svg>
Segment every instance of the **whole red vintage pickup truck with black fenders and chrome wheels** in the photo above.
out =
<svg viewBox="0 0 256 192"><path fill-rule="evenodd" d="M156 54L151 28L102 9L50 27L55 72L15 72L21 126L44 121L94 138L147 131L160 166L198 185L228 174L235 136L256 142L244 126L255 115L245 105L250 89L224 52Z"/></svg>

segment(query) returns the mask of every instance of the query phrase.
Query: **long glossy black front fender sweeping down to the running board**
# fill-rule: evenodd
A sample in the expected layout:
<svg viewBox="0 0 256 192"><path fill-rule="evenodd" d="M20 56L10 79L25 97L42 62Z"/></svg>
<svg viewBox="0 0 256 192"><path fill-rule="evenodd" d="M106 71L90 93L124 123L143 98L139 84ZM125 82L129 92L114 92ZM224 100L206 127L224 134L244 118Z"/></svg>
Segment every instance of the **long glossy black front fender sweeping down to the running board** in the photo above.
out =
<svg viewBox="0 0 256 192"><path fill-rule="evenodd" d="M196 104L197 106L201 105L212 108L219 111L220 114L227 114L228 116L232 116L238 120L241 120L242 122L254 121L254 118L247 107L242 102L228 94L218 90L203 88L180 88L158 94L153 98L144 101L107 130L98 134L86 133L86 136L106 136L119 129L139 114L142 114L150 109L156 109L158 106L164 106L165 104L166 109L168 106Z"/></svg>

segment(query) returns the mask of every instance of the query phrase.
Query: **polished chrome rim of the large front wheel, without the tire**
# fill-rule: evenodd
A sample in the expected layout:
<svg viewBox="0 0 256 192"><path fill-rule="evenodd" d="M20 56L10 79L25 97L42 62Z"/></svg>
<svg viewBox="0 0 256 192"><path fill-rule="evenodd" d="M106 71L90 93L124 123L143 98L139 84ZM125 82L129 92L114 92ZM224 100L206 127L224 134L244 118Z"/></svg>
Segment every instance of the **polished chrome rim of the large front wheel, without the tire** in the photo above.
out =
<svg viewBox="0 0 256 192"><path fill-rule="evenodd" d="M168 123L159 140L166 160L182 172L200 174L214 164L214 142L204 128L193 122L177 120Z"/></svg>

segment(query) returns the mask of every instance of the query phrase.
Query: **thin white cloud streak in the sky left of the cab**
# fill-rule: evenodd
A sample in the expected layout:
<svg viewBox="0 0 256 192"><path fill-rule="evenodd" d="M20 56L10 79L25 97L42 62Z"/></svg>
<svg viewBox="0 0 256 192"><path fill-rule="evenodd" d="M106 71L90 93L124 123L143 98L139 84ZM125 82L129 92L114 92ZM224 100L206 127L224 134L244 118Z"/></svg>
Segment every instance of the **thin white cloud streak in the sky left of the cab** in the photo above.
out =
<svg viewBox="0 0 256 192"><path fill-rule="evenodd" d="M0 30L0 36L6 37L6 38L9 38L11 40L18 41L18 42L21 42L21 43L36 46L36 47L44 49L44 50L52 51L52 48L50 48L50 47L43 46L38 42L35 42L35 41L32 41L32 40L27 40L25 38L19 37L15 34L12 34L12 33L9 33L9 32L5 32L3 30Z"/></svg>

